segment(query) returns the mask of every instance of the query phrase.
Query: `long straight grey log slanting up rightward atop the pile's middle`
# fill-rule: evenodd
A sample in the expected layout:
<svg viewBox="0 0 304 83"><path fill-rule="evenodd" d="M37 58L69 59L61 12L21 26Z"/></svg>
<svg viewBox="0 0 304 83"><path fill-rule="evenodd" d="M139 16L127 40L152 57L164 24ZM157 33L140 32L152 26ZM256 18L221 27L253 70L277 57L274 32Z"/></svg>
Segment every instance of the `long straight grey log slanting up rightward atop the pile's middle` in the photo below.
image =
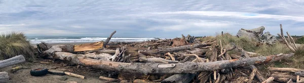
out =
<svg viewBox="0 0 304 83"><path fill-rule="evenodd" d="M160 53L167 53L167 52L178 52L182 50L191 50L194 48L200 48L205 46L211 46L214 42L211 43L199 43L199 44L193 44L193 45L183 45L183 46L176 46L176 47L170 47L170 48L164 48L164 49L156 49L156 50L147 50L146 52L152 53L152 54L160 54Z"/></svg>

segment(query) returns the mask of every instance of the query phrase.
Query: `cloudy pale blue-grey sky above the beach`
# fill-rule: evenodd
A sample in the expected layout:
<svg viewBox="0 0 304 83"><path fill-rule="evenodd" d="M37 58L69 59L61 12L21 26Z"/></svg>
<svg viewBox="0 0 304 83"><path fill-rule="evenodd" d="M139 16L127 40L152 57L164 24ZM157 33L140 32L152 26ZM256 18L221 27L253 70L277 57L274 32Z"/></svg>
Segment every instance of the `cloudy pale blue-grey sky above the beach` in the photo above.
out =
<svg viewBox="0 0 304 83"><path fill-rule="evenodd" d="M214 36L264 26L304 35L304 1L0 0L0 33L26 36ZM276 35L277 36L277 35Z"/></svg>

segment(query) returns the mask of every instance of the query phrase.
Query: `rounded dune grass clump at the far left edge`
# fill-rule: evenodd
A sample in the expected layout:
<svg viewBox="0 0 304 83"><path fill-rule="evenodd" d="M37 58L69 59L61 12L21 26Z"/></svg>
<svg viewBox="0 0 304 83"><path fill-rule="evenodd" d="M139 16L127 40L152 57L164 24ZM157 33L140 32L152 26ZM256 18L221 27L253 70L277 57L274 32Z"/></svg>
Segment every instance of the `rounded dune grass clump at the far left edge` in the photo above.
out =
<svg viewBox="0 0 304 83"><path fill-rule="evenodd" d="M22 54L27 60L35 60L32 46L23 33L12 32L0 35L1 59Z"/></svg>

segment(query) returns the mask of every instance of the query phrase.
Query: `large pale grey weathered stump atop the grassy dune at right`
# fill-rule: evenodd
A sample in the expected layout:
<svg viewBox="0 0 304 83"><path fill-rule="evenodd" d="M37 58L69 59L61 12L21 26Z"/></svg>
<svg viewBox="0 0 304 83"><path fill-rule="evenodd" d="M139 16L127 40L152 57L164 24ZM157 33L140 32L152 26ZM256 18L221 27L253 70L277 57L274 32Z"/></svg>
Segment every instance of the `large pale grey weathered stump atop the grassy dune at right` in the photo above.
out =
<svg viewBox="0 0 304 83"><path fill-rule="evenodd" d="M238 37L243 37L247 36L249 38L255 39L256 41L259 41L260 36L263 34L263 31L265 30L265 27L261 26L259 28L255 29L240 29L239 32L237 33Z"/></svg>

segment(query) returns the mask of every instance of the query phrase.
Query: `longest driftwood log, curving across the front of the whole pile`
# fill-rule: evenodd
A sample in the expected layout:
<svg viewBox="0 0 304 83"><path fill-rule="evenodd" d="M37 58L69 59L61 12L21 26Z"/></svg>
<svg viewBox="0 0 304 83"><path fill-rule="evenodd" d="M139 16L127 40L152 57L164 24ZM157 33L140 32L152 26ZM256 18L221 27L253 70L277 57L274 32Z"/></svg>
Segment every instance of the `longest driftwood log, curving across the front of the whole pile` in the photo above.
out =
<svg viewBox="0 0 304 83"><path fill-rule="evenodd" d="M54 46L52 48L55 48ZM51 48L51 49L52 49ZM60 50L60 49L57 49ZM271 56L259 56L251 58L242 59L231 59L231 60L221 60L214 62L185 62L185 63L123 63L123 62L113 62L108 60L97 60L86 58L82 56L83 54L72 54L68 52L55 52L44 51L47 54L51 54L53 58L71 61L75 64L81 64L86 66L92 66L99 69L106 69L112 71L120 72L130 72L130 73L196 73L200 71L213 71L217 69L224 69L230 67L248 66L252 64L261 64L266 62L277 61L280 59L285 59L293 56L294 53L290 54L279 54ZM55 53L53 53L55 52Z"/></svg>

